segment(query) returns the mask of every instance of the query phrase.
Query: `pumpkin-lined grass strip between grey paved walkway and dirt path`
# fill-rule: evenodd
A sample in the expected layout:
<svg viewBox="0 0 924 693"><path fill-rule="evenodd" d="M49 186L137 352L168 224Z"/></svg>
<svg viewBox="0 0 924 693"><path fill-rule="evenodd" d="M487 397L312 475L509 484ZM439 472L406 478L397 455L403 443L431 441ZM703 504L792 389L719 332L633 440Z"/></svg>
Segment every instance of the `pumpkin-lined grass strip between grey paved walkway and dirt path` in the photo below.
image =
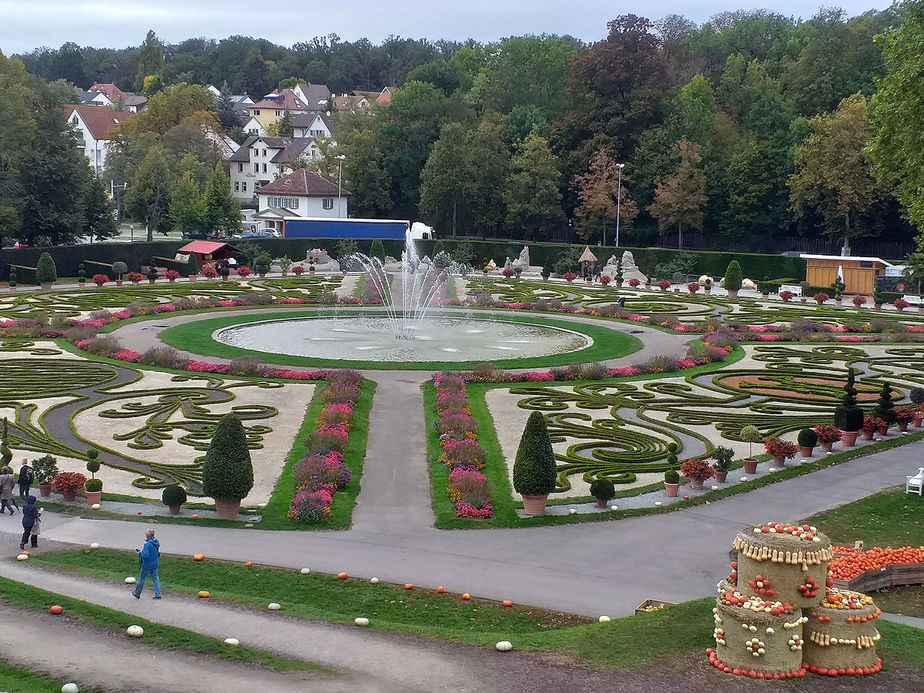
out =
<svg viewBox="0 0 924 693"><path fill-rule="evenodd" d="M118 581L137 568L134 554L120 551L57 551L33 560ZM366 616L372 628L486 647L510 640L520 650L547 652L556 659L564 657L601 669L643 669L680 654L702 653L712 644L713 599L597 623L519 605L505 608L490 600L464 601L457 594L408 591L398 585L221 561L197 563L191 558L164 556L161 577L167 589L192 593L206 585L213 599L255 608L262 609L268 599L278 597L283 612L294 616L340 622ZM924 631L885 621L878 626L887 656L900 657L924 670Z"/></svg>

